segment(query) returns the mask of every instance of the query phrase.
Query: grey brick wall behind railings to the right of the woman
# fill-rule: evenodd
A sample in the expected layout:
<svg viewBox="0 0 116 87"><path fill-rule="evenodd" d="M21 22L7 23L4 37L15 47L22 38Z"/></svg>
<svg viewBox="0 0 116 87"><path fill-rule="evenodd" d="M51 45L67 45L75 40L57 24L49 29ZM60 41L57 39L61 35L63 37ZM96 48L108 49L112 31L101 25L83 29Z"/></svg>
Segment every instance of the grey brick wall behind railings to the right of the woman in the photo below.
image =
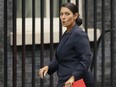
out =
<svg viewBox="0 0 116 87"><path fill-rule="evenodd" d="M93 1L94 0L88 0L88 27L93 27L94 26L94 20L93 20ZM105 0L105 30L110 30L111 29L111 10L110 10L110 1L111 0ZM116 3L116 1L115 1ZM115 6L116 8L116 6ZM114 9L115 9L114 8ZM116 10L116 9L115 9ZM115 15L116 15L116 11ZM116 17L115 17L115 21L116 21ZM116 22L115 22L116 24ZM102 30L102 0L97 0L97 28ZM114 33L116 34L116 26L114 29ZM105 87L110 87L110 72L111 72L111 55L110 55L110 45L111 45L111 39L110 39L111 35L110 32L105 34ZM116 39L116 35L115 35L115 39ZM116 44L116 40L114 39L114 42ZM116 57L116 46L114 46L115 49L115 57ZM100 45L98 47L98 56L97 56L97 80L98 82L101 82L101 63L102 63L102 54L101 54L101 42ZM115 60L116 61L116 60ZM115 69L116 72L116 69ZM116 79L116 74L115 77ZM116 82L116 80L115 80Z"/></svg>

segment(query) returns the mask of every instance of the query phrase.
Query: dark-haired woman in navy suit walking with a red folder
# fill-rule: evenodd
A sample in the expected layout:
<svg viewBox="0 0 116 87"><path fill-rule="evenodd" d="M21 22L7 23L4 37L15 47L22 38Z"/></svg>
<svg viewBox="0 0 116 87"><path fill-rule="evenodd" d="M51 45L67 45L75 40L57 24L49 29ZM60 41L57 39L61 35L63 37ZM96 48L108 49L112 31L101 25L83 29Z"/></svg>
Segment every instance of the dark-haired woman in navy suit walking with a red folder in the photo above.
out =
<svg viewBox="0 0 116 87"><path fill-rule="evenodd" d="M93 87L93 79L89 72L91 64L91 50L87 34L79 27L82 20L79 18L78 8L73 3L61 6L60 19L66 27L55 58L39 70L39 76L43 77L57 71L57 87L69 87L74 81L84 79L87 87Z"/></svg>

